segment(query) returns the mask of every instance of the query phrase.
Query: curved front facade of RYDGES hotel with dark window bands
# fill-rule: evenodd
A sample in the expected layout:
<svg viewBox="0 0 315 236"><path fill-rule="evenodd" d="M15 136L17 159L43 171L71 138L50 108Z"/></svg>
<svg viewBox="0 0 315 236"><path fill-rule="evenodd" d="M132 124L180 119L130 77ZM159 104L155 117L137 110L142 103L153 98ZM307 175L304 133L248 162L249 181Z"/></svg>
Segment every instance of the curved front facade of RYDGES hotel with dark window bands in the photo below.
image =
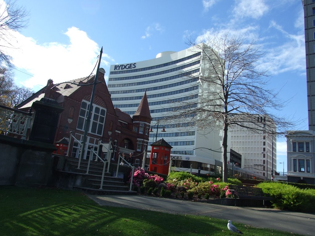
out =
<svg viewBox="0 0 315 236"><path fill-rule="evenodd" d="M190 122L193 115L176 119L172 119L172 116L178 110L198 106L198 78L202 68L202 52L198 48L188 48L146 61L111 65L108 90L114 107L131 116L135 114L146 91L153 130L149 144L163 138L173 147L171 153L194 155L197 143L205 141L194 128L195 123ZM162 128L166 132L161 132ZM151 146L148 145L150 151Z"/></svg>

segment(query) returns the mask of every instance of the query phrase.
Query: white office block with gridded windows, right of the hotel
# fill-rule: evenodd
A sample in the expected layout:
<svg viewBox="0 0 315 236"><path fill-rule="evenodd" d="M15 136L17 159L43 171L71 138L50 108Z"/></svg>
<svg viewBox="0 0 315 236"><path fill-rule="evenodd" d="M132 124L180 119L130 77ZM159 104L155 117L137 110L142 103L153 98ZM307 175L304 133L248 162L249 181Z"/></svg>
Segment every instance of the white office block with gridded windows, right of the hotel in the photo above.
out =
<svg viewBox="0 0 315 236"><path fill-rule="evenodd" d="M266 119L257 115L257 121L266 122ZM248 169L267 179L273 179L277 170L277 138L276 135L272 135L272 131L276 132L276 126L270 124L266 127L269 127L269 132L230 126L228 143L231 145L230 149L242 155L241 168Z"/></svg>

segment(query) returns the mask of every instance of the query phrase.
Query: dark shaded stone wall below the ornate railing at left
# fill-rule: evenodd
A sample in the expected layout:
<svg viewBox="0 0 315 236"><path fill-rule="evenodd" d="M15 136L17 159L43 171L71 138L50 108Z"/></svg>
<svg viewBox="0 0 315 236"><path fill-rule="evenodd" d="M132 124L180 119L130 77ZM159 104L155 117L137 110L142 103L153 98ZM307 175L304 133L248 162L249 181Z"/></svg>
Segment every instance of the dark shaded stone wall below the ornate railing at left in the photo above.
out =
<svg viewBox="0 0 315 236"><path fill-rule="evenodd" d="M0 135L0 185L47 185L53 144Z"/></svg>

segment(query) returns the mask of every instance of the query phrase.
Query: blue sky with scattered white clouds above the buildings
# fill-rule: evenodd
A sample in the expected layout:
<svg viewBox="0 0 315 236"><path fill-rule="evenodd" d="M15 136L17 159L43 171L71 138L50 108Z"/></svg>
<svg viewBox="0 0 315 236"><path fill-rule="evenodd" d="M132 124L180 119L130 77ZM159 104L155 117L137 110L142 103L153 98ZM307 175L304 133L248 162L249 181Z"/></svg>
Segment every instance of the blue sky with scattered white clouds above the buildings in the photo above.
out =
<svg viewBox="0 0 315 236"><path fill-rule="evenodd" d="M2 0L1 0L2 1ZM29 11L28 27L12 32L8 49L15 81L35 91L46 85L88 76L103 47L101 67L155 58L188 48L216 31L243 32L266 52L271 88L289 100L279 112L302 120L307 129L303 6L299 0L17 0ZM277 169L285 161L284 139L277 143Z"/></svg>

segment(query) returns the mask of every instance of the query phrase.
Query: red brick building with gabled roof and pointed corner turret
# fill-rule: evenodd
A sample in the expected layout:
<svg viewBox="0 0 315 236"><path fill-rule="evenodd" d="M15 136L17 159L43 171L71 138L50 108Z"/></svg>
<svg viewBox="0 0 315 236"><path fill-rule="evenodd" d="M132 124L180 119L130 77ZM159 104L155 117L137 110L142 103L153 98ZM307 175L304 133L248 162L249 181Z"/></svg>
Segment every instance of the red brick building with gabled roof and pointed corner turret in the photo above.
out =
<svg viewBox="0 0 315 236"><path fill-rule="evenodd" d="M146 93L143 95L137 111L131 117L114 108L104 74L105 70L100 68L93 99L90 127L86 145L83 148L85 150L83 158L86 159L89 156L90 147L93 146L96 149L99 139L103 143L108 143L109 139L112 138L112 161L117 162L118 153L122 152L128 155L132 153L133 159L140 159L141 163L143 151L147 149L151 122ZM69 141L72 133L75 139L72 138L71 143L68 144L69 156L78 157L94 79L95 75L60 84L54 84L52 80L48 80L47 86L19 104L17 109L28 111L34 101L42 98L53 99L52 101L61 105L65 110L60 115L54 141L56 146L59 141L62 141L60 143L64 148L60 149L59 153L66 154L65 140Z"/></svg>

